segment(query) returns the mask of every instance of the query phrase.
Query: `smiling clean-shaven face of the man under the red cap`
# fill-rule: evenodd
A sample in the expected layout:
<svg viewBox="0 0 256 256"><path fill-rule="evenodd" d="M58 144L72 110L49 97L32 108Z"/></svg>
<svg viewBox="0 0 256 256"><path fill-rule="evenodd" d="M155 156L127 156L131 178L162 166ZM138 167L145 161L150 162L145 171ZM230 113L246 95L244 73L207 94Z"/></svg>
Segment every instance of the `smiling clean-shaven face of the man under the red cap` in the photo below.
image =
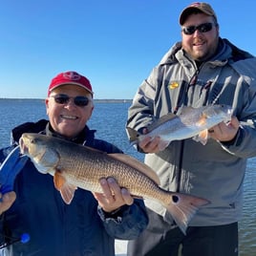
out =
<svg viewBox="0 0 256 256"><path fill-rule="evenodd" d="M53 96L66 95L70 99L64 104L55 102ZM75 105L75 96L87 96L86 106ZM61 85L46 98L47 115L53 130L67 138L75 138L84 128L94 109L92 95L82 87L76 85Z"/></svg>

